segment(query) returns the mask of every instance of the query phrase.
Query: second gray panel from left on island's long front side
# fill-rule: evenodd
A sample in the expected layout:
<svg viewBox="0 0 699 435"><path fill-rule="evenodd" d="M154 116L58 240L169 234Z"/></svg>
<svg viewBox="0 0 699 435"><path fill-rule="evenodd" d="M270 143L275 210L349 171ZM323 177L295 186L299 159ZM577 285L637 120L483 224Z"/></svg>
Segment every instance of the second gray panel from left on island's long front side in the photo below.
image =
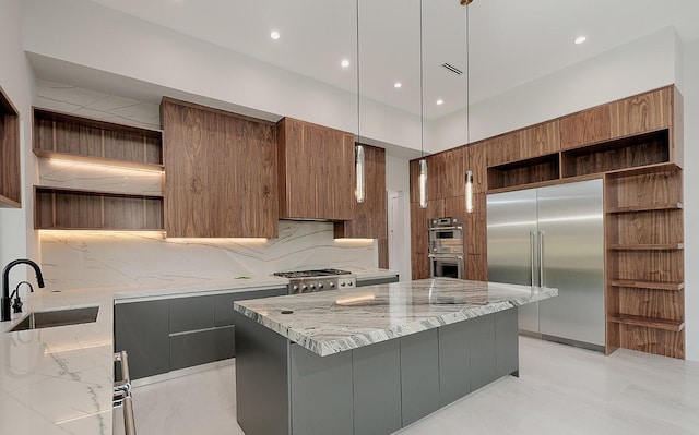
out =
<svg viewBox="0 0 699 435"><path fill-rule="evenodd" d="M392 434L401 424L400 340L352 351L355 435Z"/></svg>

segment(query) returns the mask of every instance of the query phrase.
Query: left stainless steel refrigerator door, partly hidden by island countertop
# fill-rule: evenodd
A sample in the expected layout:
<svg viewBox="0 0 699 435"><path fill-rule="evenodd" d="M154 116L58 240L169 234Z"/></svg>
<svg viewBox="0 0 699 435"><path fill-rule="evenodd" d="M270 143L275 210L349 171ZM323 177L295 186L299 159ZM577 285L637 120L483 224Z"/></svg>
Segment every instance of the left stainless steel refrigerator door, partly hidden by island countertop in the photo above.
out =
<svg viewBox="0 0 699 435"><path fill-rule="evenodd" d="M537 286L536 190L488 195L487 213L488 280ZM538 305L531 303L518 310L519 328L538 333Z"/></svg>

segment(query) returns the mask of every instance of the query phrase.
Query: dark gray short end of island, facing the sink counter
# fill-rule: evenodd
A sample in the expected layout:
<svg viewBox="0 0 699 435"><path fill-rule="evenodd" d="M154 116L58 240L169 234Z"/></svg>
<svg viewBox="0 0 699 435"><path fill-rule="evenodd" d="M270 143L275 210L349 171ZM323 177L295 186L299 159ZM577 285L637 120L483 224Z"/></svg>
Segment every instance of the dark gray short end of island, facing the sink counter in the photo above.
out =
<svg viewBox="0 0 699 435"><path fill-rule="evenodd" d="M238 424L250 435L289 435L288 340L234 314Z"/></svg>

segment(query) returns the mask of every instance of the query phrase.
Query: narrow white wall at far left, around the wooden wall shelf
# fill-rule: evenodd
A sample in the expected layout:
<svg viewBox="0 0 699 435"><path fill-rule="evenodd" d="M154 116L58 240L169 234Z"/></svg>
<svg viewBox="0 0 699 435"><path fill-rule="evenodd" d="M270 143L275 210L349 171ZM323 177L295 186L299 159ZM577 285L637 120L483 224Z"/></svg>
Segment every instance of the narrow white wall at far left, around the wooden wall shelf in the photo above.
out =
<svg viewBox="0 0 699 435"><path fill-rule="evenodd" d="M23 197L21 209L0 208L0 264L19 257L38 259L33 231L32 73L21 44L21 0L0 0L0 86L20 111ZM26 270L13 271L23 276Z"/></svg>

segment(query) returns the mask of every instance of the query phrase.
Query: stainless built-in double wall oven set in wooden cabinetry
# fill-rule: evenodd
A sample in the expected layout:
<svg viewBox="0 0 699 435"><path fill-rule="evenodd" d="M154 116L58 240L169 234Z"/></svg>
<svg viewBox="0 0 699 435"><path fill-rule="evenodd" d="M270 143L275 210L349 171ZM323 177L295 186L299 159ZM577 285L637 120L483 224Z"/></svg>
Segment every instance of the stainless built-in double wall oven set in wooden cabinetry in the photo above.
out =
<svg viewBox="0 0 699 435"><path fill-rule="evenodd" d="M429 219L429 275L433 278L465 278L463 219Z"/></svg>

